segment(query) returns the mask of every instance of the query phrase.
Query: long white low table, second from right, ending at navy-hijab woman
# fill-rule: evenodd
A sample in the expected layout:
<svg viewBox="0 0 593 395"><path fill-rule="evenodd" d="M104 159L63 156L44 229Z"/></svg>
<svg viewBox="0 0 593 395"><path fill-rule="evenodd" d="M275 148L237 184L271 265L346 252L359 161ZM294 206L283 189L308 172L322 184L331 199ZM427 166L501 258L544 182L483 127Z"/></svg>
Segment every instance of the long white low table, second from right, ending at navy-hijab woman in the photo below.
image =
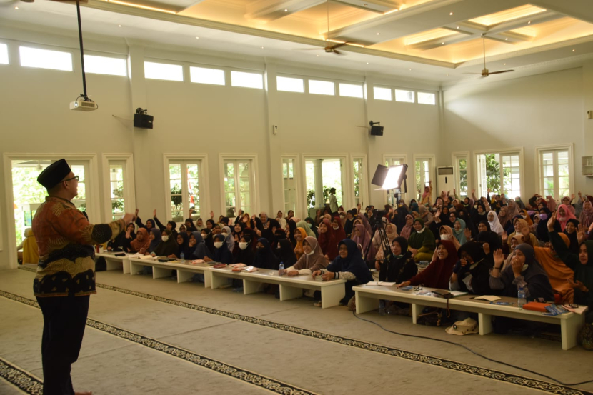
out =
<svg viewBox="0 0 593 395"><path fill-rule="evenodd" d="M346 294L344 284L346 280L322 281L312 279L310 275L289 277L279 276L277 270L259 269L248 273L246 271L232 271L231 266L221 269L210 269L212 288L219 288L228 284L227 279L240 279L243 281L243 294L255 294L260 292L264 284L276 284L280 286L280 301L300 298L303 296L303 289L313 289L322 293L322 308L337 306L339 301Z"/></svg>

